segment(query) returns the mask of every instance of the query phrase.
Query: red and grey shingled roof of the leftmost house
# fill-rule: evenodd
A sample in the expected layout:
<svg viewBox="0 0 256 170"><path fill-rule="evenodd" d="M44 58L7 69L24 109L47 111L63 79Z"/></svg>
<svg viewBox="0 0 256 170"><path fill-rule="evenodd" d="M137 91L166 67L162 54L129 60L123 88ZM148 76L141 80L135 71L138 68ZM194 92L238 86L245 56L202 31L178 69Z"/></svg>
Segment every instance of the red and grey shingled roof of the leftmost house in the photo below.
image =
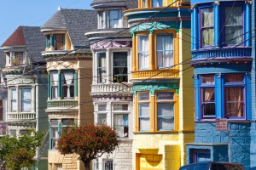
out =
<svg viewBox="0 0 256 170"><path fill-rule="evenodd" d="M44 62L41 51L45 48L45 37L39 26L19 26L1 47L5 46L26 46L33 63Z"/></svg>

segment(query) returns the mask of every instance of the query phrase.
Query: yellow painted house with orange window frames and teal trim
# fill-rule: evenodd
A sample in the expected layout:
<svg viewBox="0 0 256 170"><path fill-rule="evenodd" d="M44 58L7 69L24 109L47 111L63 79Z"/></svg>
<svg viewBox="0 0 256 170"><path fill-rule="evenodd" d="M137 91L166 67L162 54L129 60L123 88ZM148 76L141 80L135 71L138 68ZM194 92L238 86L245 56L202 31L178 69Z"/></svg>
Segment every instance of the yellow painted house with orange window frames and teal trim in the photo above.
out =
<svg viewBox="0 0 256 170"><path fill-rule="evenodd" d="M189 2L139 0L126 10L132 35L133 164L136 170L185 164L194 141Z"/></svg>

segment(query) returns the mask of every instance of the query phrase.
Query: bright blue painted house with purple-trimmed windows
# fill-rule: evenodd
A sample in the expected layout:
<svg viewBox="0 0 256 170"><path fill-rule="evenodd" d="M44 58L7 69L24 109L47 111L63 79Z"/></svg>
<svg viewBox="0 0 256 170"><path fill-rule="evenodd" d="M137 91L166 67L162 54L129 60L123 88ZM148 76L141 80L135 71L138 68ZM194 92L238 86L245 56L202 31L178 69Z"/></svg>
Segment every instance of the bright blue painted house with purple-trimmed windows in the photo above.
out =
<svg viewBox="0 0 256 170"><path fill-rule="evenodd" d="M195 143L187 144L187 163L256 166L252 15L252 1L191 1ZM217 131L218 119L229 131Z"/></svg>

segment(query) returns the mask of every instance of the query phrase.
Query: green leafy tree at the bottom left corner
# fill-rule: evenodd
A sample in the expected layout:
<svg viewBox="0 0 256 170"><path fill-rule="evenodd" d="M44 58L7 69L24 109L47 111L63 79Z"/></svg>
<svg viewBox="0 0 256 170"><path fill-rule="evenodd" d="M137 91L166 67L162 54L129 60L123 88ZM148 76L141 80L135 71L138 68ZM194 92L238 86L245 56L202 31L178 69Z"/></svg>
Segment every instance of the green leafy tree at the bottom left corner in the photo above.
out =
<svg viewBox="0 0 256 170"><path fill-rule="evenodd" d="M7 169L20 170L21 167L31 169L37 148L42 144L44 133L28 130L19 136L4 135L0 140L0 158L6 161Z"/></svg>

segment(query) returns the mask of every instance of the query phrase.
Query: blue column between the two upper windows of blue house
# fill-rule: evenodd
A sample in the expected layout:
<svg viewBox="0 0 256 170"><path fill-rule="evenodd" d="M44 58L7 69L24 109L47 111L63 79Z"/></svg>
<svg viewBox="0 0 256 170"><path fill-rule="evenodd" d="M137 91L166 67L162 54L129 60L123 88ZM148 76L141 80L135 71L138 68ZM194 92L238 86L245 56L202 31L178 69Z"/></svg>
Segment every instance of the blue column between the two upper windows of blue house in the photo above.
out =
<svg viewBox="0 0 256 170"><path fill-rule="evenodd" d="M219 2L213 3L213 27L214 27L214 46L219 47L220 35L219 35Z"/></svg>

